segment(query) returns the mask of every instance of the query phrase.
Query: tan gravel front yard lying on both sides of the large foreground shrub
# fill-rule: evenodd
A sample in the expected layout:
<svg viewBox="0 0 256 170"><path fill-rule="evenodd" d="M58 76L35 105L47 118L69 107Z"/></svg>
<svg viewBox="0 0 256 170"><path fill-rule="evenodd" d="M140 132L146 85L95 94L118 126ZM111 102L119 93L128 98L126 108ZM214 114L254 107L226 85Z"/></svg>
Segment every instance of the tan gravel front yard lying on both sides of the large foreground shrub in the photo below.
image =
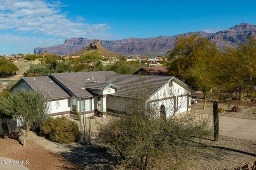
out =
<svg viewBox="0 0 256 170"><path fill-rule="evenodd" d="M112 118L115 117L108 116L105 119L94 117L92 119L93 131L96 133L99 124L107 123ZM92 146L84 146L79 143L69 145L55 143L44 137L38 137L34 132L30 132L28 138L44 149L58 154L84 169L116 169L113 150L99 152L98 146L101 141L98 140L97 135L92 140ZM198 142L206 145L195 143L187 150L186 159L189 169L234 169L234 167L242 166L245 162L252 163L256 160L255 141L220 136L218 142L212 139Z"/></svg>

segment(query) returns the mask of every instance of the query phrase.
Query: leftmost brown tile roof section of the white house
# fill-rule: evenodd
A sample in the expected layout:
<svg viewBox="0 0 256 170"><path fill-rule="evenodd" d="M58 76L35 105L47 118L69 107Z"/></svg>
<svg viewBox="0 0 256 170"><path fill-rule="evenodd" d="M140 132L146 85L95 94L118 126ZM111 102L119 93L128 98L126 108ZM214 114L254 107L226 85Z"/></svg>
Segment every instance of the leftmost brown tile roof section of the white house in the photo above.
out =
<svg viewBox="0 0 256 170"><path fill-rule="evenodd" d="M61 87L54 83L49 77L26 77L21 81L25 81L34 91L41 91L44 97L48 99L70 97Z"/></svg>

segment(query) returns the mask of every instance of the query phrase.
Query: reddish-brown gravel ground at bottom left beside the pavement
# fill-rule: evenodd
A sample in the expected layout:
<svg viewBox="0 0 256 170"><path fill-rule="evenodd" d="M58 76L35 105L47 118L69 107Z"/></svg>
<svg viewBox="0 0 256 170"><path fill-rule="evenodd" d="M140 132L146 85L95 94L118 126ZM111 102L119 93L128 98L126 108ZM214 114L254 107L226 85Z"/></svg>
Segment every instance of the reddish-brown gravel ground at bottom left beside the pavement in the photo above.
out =
<svg viewBox="0 0 256 170"><path fill-rule="evenodd" d="M79 169L79 167L63 156L51 153L31 140L26 147L14 139L0 139L0 156L14 160L28 160L27 168L33 169ZM0 165L1 166L1 165Z"/></svg>

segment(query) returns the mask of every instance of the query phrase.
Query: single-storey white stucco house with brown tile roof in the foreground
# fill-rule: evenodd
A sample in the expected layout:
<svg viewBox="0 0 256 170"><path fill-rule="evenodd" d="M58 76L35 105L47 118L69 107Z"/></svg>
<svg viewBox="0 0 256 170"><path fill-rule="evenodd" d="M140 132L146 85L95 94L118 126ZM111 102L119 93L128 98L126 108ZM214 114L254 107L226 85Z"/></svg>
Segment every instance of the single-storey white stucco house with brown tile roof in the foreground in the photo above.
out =
<svg viewBox="0 0 256 170"><path fill-rule="evenodd" d="M127 112L134 98L147 95L150 105L165 106L166 115L190 109L190 88L169 76L124 75L113 71L54 73L25 77L10 91L41 91L49 100L50 116L92 116Z"/></svg>

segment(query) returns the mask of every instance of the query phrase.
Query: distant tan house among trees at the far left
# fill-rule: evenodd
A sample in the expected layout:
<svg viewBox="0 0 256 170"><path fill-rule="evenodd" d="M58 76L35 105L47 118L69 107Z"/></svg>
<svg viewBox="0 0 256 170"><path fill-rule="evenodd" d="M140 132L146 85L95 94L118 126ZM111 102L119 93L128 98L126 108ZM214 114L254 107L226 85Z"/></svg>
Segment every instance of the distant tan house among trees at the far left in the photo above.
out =
<svg viewBox="0 0 256 170"><path fill-rule="evenodd" d="M27 73L29 66L31 64L41 64L41 61L39 61L38 59L36 59L35 61L27 61L27 60L19 60L19 61L15 61L13 62L15 65L18 66L19 71L16 72L17 75L23 75L24 73Z"/></svg>

